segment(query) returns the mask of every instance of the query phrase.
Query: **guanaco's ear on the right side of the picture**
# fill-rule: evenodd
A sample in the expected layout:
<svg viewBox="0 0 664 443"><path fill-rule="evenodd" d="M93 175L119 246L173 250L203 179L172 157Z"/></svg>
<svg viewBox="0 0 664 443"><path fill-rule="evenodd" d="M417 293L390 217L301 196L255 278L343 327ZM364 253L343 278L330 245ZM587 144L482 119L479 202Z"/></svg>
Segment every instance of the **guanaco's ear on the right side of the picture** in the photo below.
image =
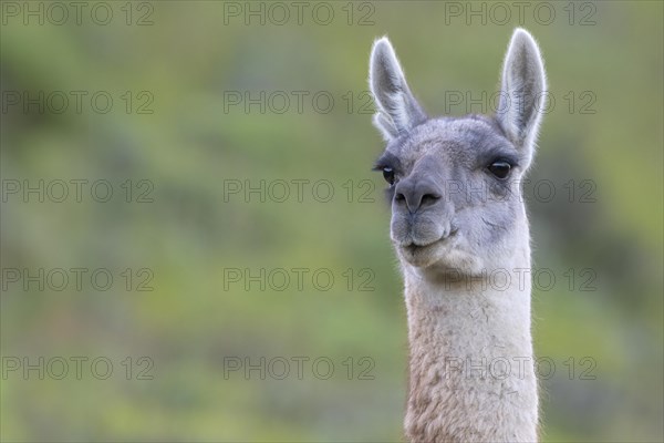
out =
<svg viewBox="0 0 664 443"><path fill-rule="evenodd" d="M505 55L496 120L522 152L525 168L532 159L546 93L547 78L540 50L528 31L517 28Z"/></svg>

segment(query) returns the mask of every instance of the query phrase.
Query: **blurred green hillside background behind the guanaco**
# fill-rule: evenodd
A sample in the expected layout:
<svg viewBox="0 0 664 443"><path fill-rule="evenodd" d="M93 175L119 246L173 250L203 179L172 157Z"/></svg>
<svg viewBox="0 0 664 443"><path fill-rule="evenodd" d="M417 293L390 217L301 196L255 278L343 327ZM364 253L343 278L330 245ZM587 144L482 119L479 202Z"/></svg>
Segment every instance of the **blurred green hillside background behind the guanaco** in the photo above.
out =
<svg viewBox="0 0 664 443"><path fill-rule="evenodd" d="M526 186L543 440L662 441L663 3L525 3L2 2L1 440L401 441L369 51L430 114L481 112L523 25L554 100Z"/></svg>

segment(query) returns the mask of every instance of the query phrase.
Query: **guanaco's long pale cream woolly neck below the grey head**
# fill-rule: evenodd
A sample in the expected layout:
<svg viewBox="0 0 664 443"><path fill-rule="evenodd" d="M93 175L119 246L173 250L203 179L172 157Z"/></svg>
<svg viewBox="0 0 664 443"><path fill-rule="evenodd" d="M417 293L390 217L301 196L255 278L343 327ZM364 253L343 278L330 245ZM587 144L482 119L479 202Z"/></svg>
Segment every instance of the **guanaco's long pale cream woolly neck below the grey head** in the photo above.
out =
<svg viewBox="0 0 664 443"><path fill-rule="evenodd" d="M530 254L525 245L513 267L500 270L502 277L509 274L507 288L505 279L432 282L404 266L409 441L538 440L530 277L523 271L530 269Z"/></svg>

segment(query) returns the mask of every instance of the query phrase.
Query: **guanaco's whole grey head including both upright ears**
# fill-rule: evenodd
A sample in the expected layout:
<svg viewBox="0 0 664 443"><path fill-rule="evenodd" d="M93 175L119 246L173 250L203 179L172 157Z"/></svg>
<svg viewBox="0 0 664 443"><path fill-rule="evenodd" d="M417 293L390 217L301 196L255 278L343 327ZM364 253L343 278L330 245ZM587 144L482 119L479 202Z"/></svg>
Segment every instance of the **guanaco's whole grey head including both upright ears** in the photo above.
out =
<svg viewBox="0 0 664 443"><path fill-rule="evenodd" d="M546 94L535 40L517 29L507 51L495 116L428 119L386 38L373 48L374 124L387 141L376 163L392 171L391 237L400 259L427 272L491 271L528 236L519 182L532 159ZM508 163L505 178L489 166Z"/></svg>

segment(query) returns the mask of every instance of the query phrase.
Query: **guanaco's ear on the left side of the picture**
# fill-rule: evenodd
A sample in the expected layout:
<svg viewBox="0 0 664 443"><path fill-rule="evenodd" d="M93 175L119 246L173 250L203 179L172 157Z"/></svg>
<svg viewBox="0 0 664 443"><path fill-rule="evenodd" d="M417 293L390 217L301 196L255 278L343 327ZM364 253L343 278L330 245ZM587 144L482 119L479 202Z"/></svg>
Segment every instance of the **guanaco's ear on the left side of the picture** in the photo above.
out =
<svg viewBox="0 0 664 443"><path fill-rule="evenodd" d="M369 63L369 86L376 106L373 124L386 141L407 133L426 120L426 114L408 89L386 37L373 44Z"/></svg>

